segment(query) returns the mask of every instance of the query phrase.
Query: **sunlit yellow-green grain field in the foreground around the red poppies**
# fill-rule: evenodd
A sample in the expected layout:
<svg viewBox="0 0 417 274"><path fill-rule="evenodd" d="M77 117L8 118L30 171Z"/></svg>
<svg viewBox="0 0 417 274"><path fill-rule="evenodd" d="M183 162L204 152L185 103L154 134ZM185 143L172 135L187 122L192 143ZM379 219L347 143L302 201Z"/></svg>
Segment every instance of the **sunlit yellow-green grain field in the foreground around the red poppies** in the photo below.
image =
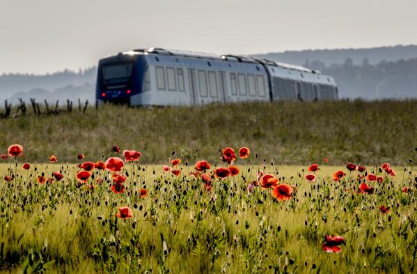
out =
<svg viewBox="0 0 417 274"><path fill-rule="evenodd" d="M59 157L59 155L58 155ZM175 157L175 156L174 156ZM411 155L412 157L412 155ZM17 158L19 160L19 158ZM262 165L254 155L238 160L237 176L212 178L206 191L189 176L194 162L183 162L180 176L162 165L125 165L125 193L111 192L111 174L97 169L79 184L74 164L0 165L0 269L31 273L413 273L417 257L417 174L412 163L379 166L367 182L373 194L358 193L358 171L319 163L314 183L308 166ZM220 160L212 162L224 166ZM11 169L10 169L11 166ZM271 190L247 188L258 169L294 185L288 201ZM36 178L61 170L62 181L40 185ZM334 172L346 176L333 181ZM362 174L364 175L364 174ZM94 177L94 178L93 178ZM102 183L95 183L97 178ZM94 185L93 190L88 185ZM402 188L413 188L403 192ZM139 197L141 188L148 197ZM137 193L136 193L137 192ZM388 208L381 213L379 206ZM133 218L116 217L129 206ZM340 235L338 254L324 252L324 236Z"/></svg>

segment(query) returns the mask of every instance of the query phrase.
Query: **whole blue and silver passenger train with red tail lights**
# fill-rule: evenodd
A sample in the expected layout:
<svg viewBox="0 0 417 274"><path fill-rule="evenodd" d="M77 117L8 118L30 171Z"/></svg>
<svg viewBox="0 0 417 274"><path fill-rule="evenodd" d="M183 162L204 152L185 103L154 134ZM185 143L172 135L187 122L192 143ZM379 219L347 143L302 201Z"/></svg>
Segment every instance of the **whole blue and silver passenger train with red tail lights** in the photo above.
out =
<svg viewBox="0 0 417 274"><path fill-rule="evenodd" d="M100 60L97 102L131 106L210 102L337 100L334 79L317 70L248 56L150 48Z"/></svg>

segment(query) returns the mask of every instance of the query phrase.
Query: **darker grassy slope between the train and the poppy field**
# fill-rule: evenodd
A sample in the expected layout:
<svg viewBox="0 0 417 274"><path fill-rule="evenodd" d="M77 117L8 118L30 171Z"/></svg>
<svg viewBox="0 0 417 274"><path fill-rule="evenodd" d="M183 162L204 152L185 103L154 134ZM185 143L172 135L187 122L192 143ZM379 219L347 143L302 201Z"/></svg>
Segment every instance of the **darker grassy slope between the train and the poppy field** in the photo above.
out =
<svg viewBox="0 0 417 274"><path fill-rule="evenodd" d="M129 109L105 106L58 116L26 116L0 123L0 153L25 146L22 160L74 162L107 155L113 144L143 153L141 162L162 163L171 151L194 161L225 146L249 146L266 162L307 165L330 158L402 165L417 146L417 100L253 102L205 107Z"/></svg>

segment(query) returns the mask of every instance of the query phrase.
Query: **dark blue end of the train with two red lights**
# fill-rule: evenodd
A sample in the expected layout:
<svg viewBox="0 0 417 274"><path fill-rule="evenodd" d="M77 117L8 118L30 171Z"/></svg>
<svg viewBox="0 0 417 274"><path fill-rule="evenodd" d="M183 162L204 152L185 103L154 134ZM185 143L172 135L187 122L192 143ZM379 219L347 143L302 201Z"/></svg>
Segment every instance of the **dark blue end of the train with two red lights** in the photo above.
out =
<svg viewBox="0 0 417 274"><path fill-rule="evenodd" d="M143 55L137 52L123 52L101 59L97 70L97 103L131 105L132 96L142 91L145 68Z"/></svg>

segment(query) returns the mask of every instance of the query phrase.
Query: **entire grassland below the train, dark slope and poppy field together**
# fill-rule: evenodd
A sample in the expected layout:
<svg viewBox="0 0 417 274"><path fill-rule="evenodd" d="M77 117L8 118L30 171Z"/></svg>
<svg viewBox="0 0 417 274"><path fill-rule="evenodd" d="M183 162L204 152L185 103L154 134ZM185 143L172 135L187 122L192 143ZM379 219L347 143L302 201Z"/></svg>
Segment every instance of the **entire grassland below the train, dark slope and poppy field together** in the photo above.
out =
<svg viewBox="0 0 417 274"><path fill-rule="evenodd" d="M342 101L2 120L0 154L18 155L0 158L0 271L414 273L416 116Z"/></svg>

